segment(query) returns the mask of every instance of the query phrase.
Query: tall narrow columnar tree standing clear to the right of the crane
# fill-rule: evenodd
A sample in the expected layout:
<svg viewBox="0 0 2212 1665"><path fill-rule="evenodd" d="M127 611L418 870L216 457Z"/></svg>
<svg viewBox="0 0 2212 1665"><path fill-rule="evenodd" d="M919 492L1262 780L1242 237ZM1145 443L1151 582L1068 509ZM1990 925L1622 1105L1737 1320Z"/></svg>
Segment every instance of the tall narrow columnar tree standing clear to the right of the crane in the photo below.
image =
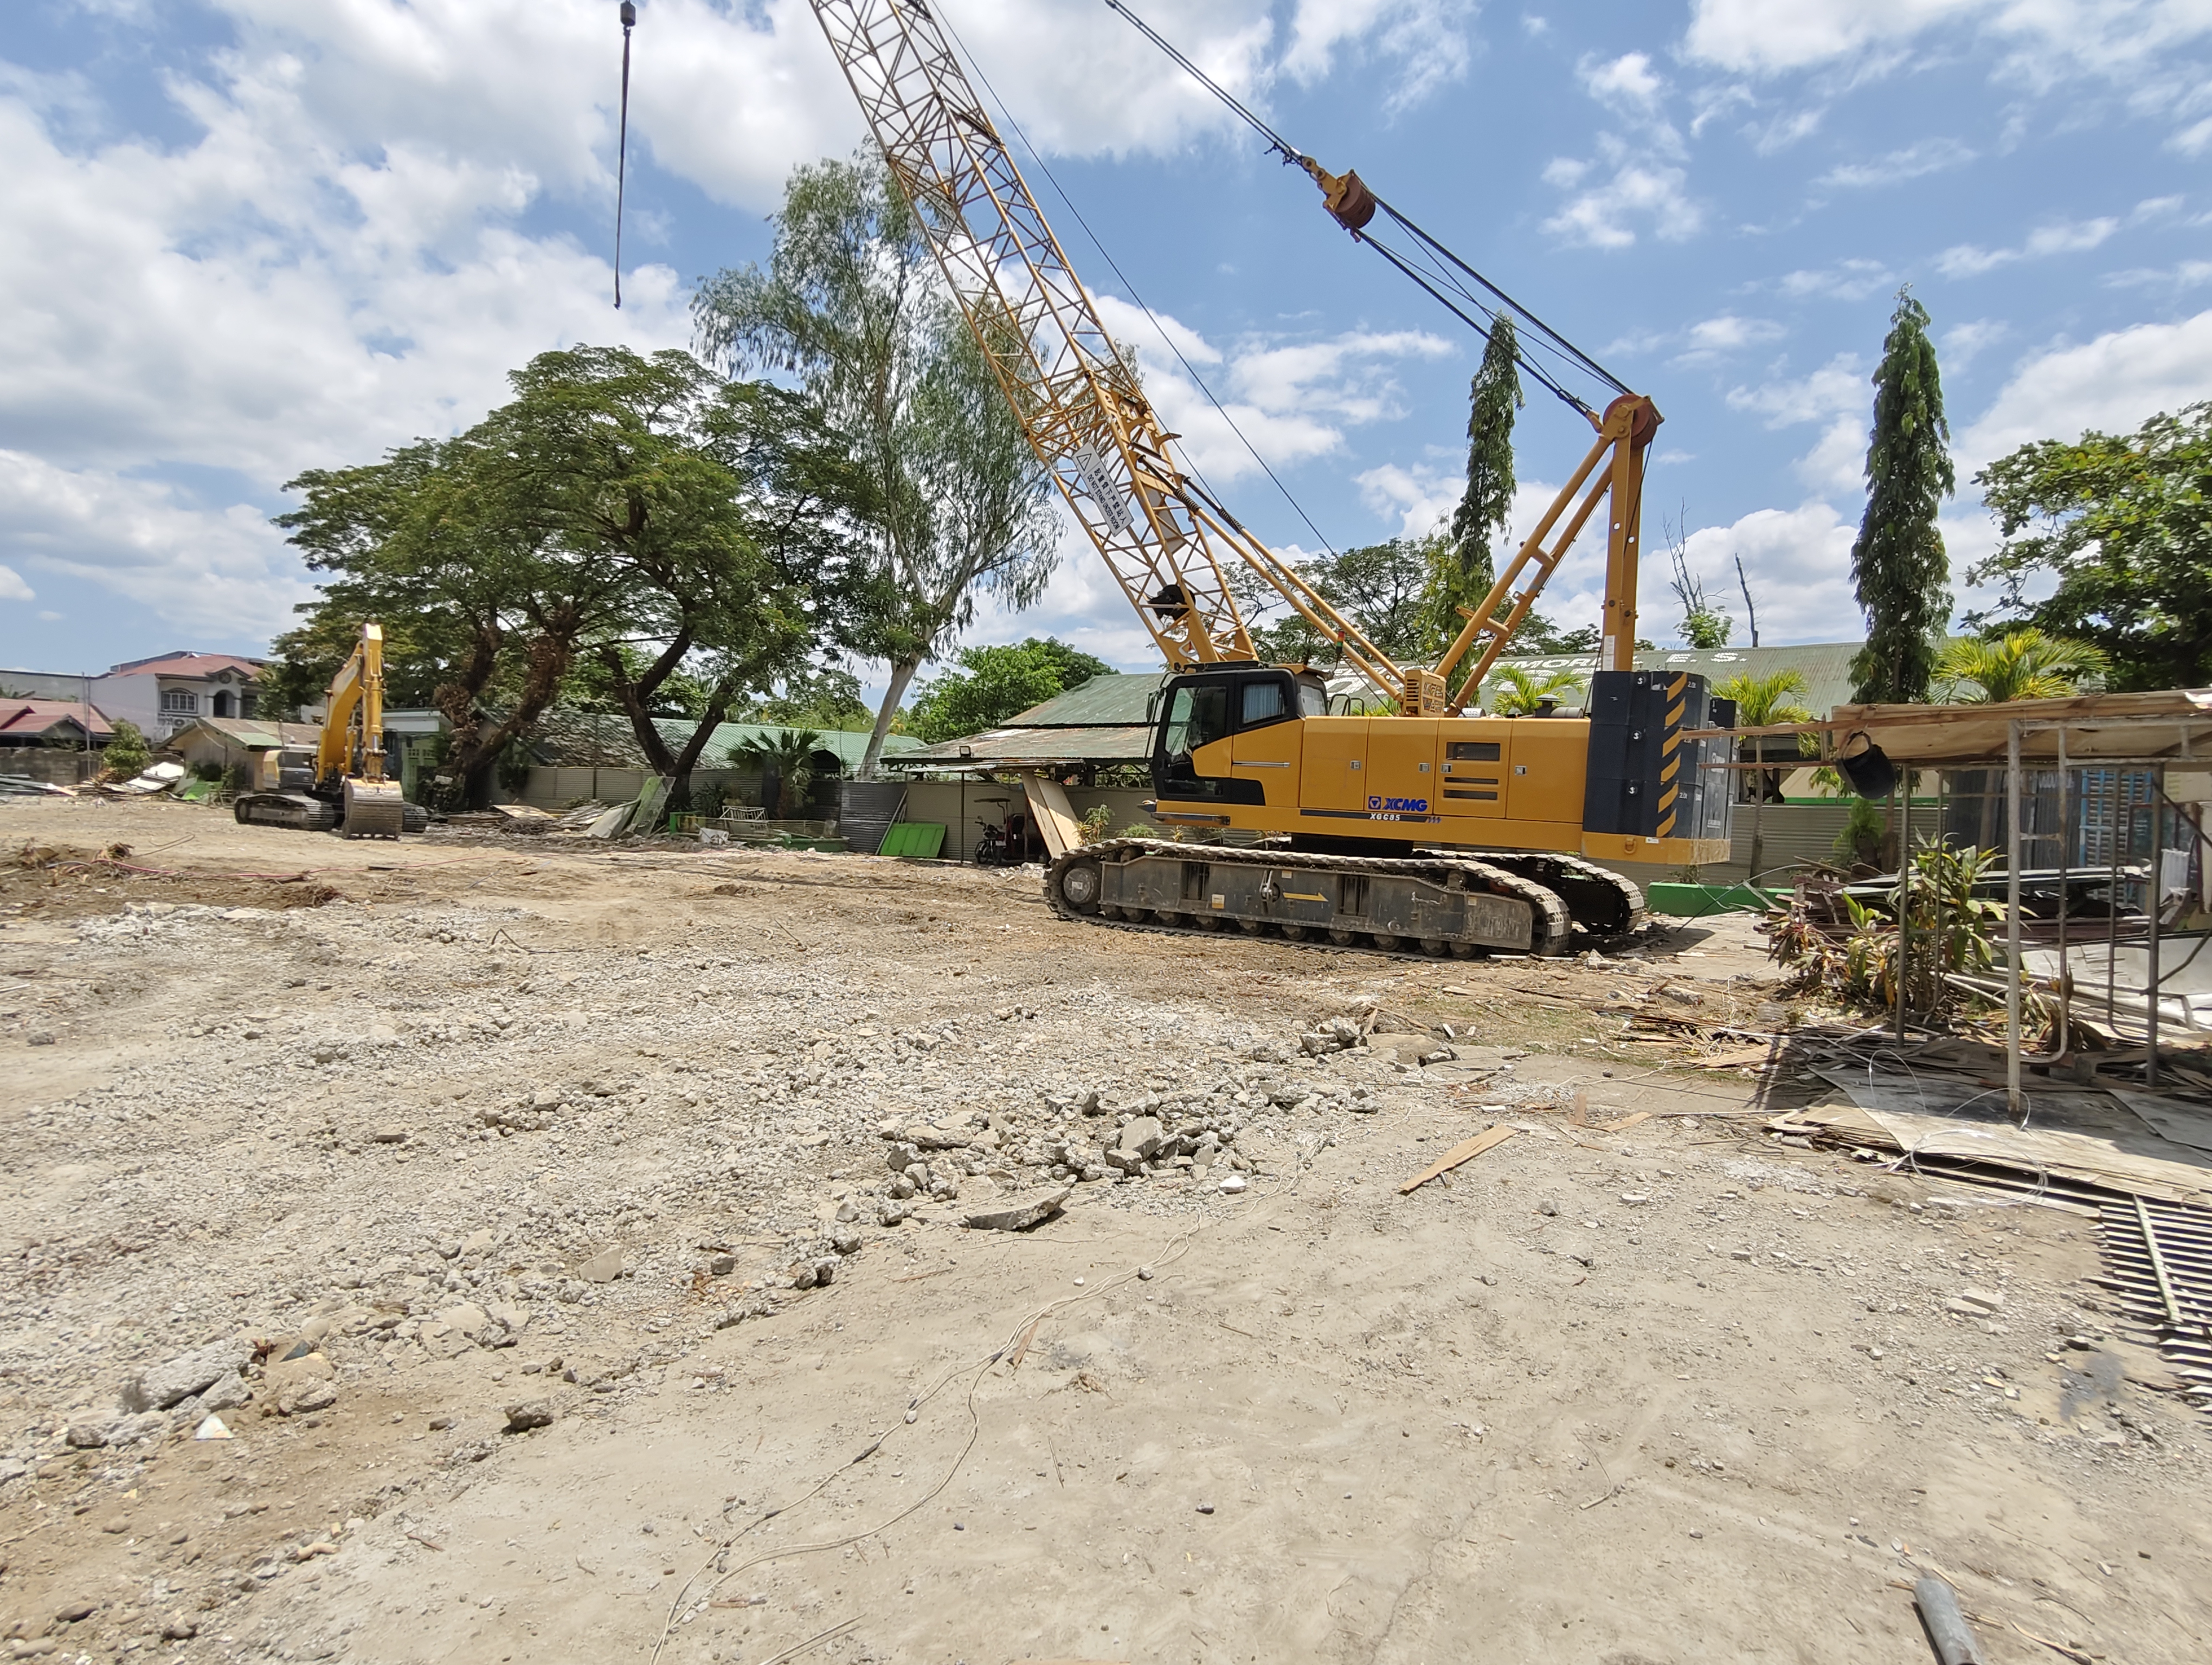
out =
<svg viewBox="0 0 2212 1665"><path fill-rule="evenodd" d="M1851 544L1851 579L1867 612L1867 646L1851 659L1851 699L1924 701L1938 641L1951 619L1951 562L1936 513L1953 491L1951 429L1929 314L1898 290L1882 367L1874 371L1867 442L1867 515Z"/></svg>

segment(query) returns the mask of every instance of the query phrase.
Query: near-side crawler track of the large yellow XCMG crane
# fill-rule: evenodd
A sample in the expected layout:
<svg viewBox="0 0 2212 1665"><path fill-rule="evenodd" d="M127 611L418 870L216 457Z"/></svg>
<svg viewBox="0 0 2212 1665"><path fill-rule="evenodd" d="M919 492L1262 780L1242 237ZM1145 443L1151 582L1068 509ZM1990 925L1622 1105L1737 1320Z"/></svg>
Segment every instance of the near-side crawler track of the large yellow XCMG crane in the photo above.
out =
<svg viewBox="0 0 2212 1665"><path fill-rule="evenodd" d="M1190 935L1234 924L1245 935L1380 953L1555 955L1573 935L1553 889L1458 854L1318 856L1110 838L1051 862L1044 900L1084 924Z"/></svg>

